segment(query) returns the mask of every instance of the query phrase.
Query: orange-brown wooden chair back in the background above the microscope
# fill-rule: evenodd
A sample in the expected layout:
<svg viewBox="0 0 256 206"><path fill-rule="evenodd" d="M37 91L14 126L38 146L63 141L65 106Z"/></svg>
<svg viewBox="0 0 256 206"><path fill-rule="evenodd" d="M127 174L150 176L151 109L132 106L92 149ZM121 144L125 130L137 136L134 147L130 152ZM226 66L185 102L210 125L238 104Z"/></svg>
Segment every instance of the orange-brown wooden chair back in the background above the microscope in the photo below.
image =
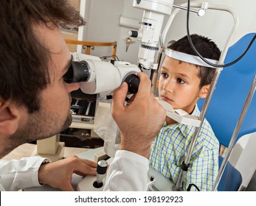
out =
<svg viewBox="0 0 256 206"><path fill-rule="evenodd" d="M86 54L91 54L91 49L94 49L94 46L112 46L112 54L111 58L116 58L116 52L117 52L117 41L113 42L96 42L96 41L84 41L84 40L71 40L71 39L65 39L66 43L68 44L75 44L75 45L81 45L83 46L83 49L86 49Z"/></svg>

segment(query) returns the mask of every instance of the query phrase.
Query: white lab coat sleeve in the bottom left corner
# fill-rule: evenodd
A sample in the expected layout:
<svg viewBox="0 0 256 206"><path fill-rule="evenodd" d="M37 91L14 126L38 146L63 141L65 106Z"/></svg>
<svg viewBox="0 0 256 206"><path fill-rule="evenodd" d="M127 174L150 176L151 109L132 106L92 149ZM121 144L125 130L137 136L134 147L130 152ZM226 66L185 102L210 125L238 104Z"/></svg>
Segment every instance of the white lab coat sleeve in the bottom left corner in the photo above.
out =
<svg viewBox="0 0 256 206"><path fill-rule="evenodd" d="M0 191L18 191L38 187L38 169L43 157L25 157L21 160L0 160Z"/></svg>

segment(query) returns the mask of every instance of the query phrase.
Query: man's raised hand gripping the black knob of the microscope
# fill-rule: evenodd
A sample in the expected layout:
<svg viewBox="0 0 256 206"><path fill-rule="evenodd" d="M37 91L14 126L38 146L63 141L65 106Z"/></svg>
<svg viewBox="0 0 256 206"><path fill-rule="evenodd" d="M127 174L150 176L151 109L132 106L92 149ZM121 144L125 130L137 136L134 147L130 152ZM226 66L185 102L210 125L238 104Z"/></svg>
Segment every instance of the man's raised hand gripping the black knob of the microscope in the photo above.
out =
<svg viewBox="0 0 256 206"><path fill-rule="evenodd" d="M120 149L148 158L151 144L165 121L166 113L151 92L151 80L147 74L139 73L138 76L139 90L131 104L125 107L126 83L122 83L114 92L112 116L121 133Z"/></svg>

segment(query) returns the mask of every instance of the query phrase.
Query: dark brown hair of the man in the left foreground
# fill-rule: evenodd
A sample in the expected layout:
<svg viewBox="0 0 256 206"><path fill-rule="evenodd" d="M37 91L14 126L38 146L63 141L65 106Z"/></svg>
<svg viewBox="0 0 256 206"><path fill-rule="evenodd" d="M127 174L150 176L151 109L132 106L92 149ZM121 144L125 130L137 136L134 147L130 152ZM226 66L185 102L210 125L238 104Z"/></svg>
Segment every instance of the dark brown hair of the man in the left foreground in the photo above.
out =
<svg viewBox="0 0 256 206"><path fill-rule="evenodd" d="M0 99L40 108L39 93L49 84L50 51L33 24L80 26L83 18L67 0L3 0L0 7Z"/></svg>

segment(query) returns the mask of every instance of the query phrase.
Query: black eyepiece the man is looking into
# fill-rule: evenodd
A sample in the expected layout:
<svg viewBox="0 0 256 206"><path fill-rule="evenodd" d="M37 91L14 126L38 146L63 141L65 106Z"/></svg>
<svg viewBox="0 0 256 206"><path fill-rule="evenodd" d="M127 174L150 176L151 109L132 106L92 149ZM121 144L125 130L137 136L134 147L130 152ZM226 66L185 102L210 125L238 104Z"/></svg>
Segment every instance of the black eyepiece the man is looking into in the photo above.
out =
<svg viewBox="0 0 256 206"><path fill-rule="evenodd" d="M73 62L69 66L69 70L64 74L66 83L87 82L89 79L89 65L86 61Z"/></svg>

